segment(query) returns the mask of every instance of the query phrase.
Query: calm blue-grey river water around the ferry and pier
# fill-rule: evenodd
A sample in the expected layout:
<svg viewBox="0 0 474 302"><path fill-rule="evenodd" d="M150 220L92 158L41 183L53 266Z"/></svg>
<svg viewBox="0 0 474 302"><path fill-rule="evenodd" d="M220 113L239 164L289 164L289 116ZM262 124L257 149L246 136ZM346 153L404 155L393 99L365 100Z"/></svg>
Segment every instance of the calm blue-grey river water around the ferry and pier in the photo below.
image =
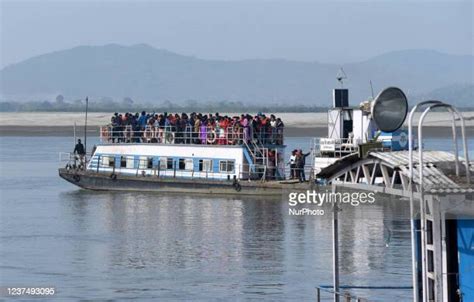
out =
<svg viewBox="0 0 474 302"><path fill-rule="evenodd" d="M306 301L331 284L330 219L290 216L284 200L81 190L58 177L58 153L71 150L66 137L0 138L0 286L52 286L61 301ZM342 285L411 286L408 205L383 200L341 213Z"/></svg>

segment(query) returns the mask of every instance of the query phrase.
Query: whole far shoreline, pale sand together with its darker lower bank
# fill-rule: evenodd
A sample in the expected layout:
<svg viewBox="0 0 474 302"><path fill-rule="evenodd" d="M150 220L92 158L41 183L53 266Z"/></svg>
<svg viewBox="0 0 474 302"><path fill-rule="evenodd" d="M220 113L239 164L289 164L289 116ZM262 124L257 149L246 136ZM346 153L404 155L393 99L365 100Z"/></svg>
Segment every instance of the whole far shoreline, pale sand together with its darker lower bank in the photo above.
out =
<svg viewBox="0 0 474 302"><path fill-rule="evenodd" d="M227 113L234 115L233 113ZM285 123L286 137L327 136L327 113L278 113ZM87 134L99 136L99 125L110 122L112 113L92 112L88 116ZM474 112L463 112L466 135L474 136ZM415 114L414 125L418 124L419 112ZM8 136L69 136L74 135L73 125L77 124L77 136L84 136L84 114L78 112L0 112L0 137ZM406 125L405 121L405 127ZM458 122L459 124L459 122ZM416 129L416 127L414 127ZM434 112L427 116L425 136L430 138L451 137L451 114ZM416 131L416 130L415 130Z"/></svg>

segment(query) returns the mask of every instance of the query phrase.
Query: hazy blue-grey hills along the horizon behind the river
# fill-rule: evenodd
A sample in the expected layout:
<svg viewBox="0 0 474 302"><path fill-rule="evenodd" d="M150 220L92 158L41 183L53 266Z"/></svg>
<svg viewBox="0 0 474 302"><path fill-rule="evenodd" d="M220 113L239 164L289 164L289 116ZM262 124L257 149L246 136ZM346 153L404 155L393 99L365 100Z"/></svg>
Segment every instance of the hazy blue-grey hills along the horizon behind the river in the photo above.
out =
<svg viewBox="0 0 474 302"><path fill-rule="evenodd" d="M348 49L350 51L350 49ZM342 62L341 62L342 63ZM344 67L352 104L386 86L409 97L443 87L457 95L474 83L474 56L406 50L349 64L288 60L217 61L183 56L148 45L79 46L9 65L0 71L1 101L89 97L131 97L144 102L186 100L327 106L340 67ZM461 91L459 91L461 90ZM466 92L469 93L469 92ZM471 94L472 95L472 94Z"/></svg>

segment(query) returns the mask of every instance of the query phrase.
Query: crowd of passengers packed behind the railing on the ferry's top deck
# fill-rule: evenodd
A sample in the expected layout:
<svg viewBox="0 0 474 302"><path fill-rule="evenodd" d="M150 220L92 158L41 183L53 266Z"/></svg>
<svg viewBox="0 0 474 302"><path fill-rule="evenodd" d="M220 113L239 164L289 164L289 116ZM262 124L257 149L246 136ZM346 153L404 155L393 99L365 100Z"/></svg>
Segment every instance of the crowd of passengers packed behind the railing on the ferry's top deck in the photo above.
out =
<svg viewBox="0 0 474 302"><path fill-rule="evenodd" d="M115 113L111 124L101 128L101 137L112 143L173 143L237 145L283 144L284 124L271 114L255 116L181 113Z"/></svg>

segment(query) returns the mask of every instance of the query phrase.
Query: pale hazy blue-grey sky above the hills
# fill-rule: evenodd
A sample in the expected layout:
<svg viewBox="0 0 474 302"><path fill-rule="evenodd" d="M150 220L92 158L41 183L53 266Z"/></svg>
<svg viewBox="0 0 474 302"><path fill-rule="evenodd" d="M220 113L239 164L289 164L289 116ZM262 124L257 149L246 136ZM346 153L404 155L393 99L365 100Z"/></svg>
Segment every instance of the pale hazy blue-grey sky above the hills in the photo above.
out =
<svg viewBox="0 0 474 302"><path fill-rule="evenodd" d="M4 1L0 66L78 45L209 59L338 62L402 49L473 54L473 1Z"/></svg>

